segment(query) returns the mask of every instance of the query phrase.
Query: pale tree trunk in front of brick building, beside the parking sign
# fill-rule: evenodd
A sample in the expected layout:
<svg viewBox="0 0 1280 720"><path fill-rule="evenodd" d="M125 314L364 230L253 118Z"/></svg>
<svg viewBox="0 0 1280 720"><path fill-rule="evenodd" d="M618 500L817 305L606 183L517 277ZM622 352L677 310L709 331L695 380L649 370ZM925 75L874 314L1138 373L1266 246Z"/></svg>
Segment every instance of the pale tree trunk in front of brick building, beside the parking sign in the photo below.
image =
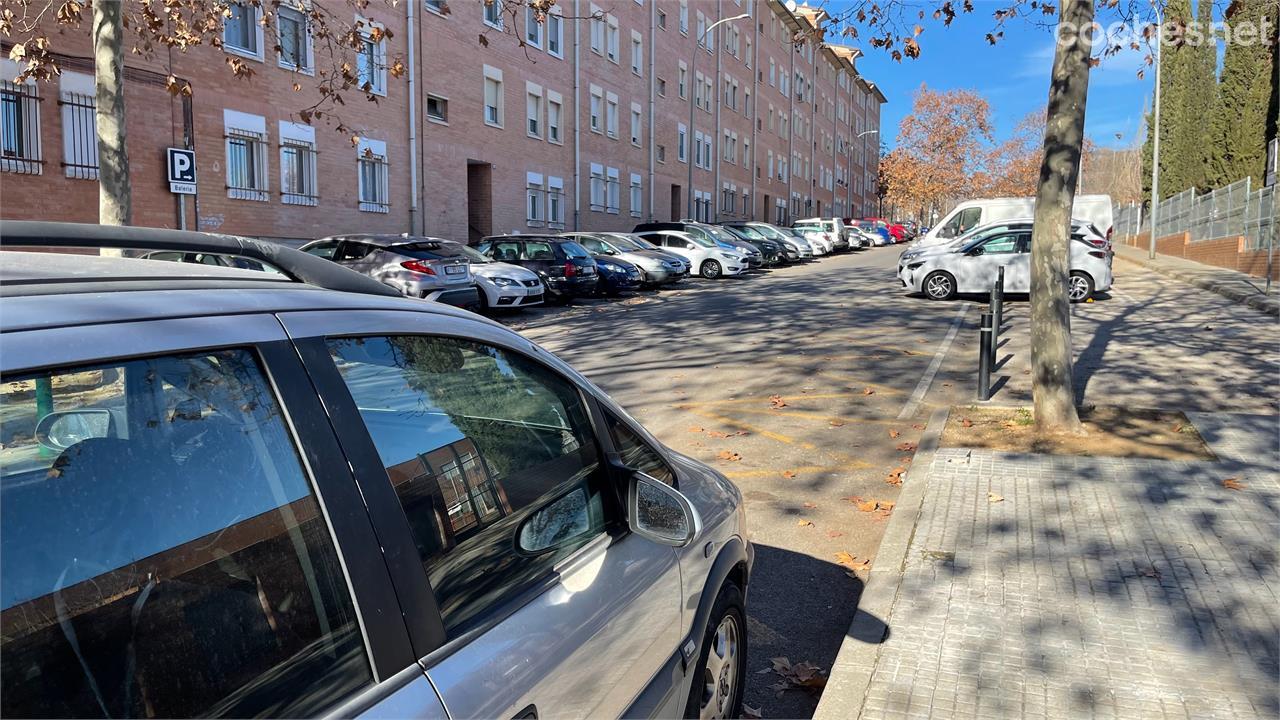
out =
<svg viewBox="0 0 1280 720"><path fill-rule="evenodd" d="M97 90L97 222L133 220L124 124L124 3L93 3L93 74Z"/></svg>

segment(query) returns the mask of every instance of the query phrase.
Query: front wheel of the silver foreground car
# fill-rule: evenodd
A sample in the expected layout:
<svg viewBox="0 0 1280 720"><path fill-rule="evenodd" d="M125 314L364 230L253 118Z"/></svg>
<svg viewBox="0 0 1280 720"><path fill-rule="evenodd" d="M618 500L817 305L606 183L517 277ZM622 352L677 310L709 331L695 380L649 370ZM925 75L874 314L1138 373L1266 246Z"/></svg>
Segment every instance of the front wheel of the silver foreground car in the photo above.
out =
<svg viewBox="0 0 1280 720"><path fill-rule="evenodd" d="M746 607L742 591L726 582L707 619L703 651L694 665L685 717L703 720L742 714L746 684Z"/></svg>

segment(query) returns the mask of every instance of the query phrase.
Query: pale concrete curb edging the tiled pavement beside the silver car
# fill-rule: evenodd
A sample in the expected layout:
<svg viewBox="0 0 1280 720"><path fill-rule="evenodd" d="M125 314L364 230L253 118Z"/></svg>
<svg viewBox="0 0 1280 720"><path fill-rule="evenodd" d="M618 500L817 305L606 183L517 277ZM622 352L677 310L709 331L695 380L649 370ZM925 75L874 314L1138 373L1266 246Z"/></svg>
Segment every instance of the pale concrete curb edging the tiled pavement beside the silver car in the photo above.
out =
<svg viewBox="0 0 1280 720"><path fill-rule="evenodd" d="M893 515L884 528L876 562L858 601L858 612L840 644L813 720L847 720L861 714L863 698L867 697L867 687L870 685L881 643L888 632L893 602L902 583L906 553L924 503L929 466L933 465L933 455L938 450L948 414L947 407L934 410L924 428L919 450L902 479L902 492L897 496Z"/></svg>

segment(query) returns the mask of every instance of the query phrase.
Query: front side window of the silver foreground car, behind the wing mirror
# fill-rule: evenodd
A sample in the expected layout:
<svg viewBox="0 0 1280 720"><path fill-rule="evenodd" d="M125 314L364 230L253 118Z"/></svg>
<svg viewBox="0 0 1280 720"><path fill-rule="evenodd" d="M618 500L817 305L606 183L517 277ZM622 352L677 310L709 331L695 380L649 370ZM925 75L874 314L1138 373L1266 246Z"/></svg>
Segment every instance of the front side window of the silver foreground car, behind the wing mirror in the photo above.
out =
<svg viewBox="0 0 1280 720"><path fill-rule="evenodd" d="M577 387L456 338L334 338L329 351L404 510L449 637L621 524Z"/></svg>

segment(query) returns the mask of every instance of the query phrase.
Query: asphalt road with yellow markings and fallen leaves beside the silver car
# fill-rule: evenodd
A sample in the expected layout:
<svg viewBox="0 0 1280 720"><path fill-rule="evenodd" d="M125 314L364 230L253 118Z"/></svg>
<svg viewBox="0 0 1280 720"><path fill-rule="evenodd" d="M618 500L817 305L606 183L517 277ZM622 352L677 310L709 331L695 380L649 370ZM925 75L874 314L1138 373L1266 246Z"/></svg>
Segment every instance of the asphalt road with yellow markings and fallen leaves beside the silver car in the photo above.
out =
<svg viewBox="0 0 1280 720"><path fill-rule="evenodd" d="M813 712L815 693L778 697L780 678L760 670L773 657L831 667L860 564L874 561L897 497L886 480L908 466L928 418L922 378L965 305L906 297L897 255L870 249L502 318L742 488L758 551L746 703L765 717ZM937 384L931 402L959 397L951 380ZM855 497L872 503L845 500Z"/></svg>

